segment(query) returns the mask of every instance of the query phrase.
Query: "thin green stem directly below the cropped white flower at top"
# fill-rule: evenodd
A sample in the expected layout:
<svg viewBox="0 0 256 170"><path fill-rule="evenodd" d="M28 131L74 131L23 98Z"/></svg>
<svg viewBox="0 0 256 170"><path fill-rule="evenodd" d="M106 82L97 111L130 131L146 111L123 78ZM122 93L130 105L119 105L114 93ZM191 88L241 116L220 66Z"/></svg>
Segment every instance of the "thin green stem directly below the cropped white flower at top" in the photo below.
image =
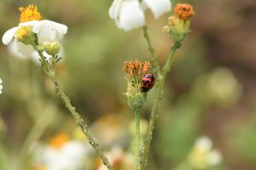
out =
<svg viewBox="0 0 256 170"><path fill-rule="evenodd" d="M154 72L155 75L159 76L160 75L160 66L158 65L157 57L156 57L154 48L153 48L153 46L151 44L151 41L150 41L147 26L143 26L143 35L144 35L144 37L145 37L145 39L148 43L148 51L151 54L151 59L152 59L152 63L153 63L153 72Z"/></svg>

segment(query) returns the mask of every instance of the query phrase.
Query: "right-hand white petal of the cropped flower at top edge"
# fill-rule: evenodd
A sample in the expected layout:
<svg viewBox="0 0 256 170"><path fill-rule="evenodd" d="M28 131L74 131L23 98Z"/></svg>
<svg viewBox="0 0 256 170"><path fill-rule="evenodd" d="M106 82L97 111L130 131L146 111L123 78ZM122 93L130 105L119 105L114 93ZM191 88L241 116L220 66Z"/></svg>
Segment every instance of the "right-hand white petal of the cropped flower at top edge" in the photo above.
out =
<svg viewBox="0 0 256 170"><path fill-rule="evenodd" d="M147 5L151 9L156 19L171 11L172 8L171 0L143 0L143 5Z"/></svg>

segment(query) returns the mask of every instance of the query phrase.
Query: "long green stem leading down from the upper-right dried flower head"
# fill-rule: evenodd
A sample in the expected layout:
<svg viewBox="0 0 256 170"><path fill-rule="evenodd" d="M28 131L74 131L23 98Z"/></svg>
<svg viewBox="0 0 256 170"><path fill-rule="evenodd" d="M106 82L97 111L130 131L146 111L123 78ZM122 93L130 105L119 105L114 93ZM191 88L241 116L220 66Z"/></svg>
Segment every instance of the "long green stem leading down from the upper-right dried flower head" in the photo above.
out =
<svg viewBox="0 0 256 170"><path fill-rule="evenodd" d="M157 84L156 96L154 99L154 105L153 105L153 108L151 111L150 121L149 121L149 125L148 125L148 133L147 133L144 148L143 148L143 161L142 161L142 165L141 165L142 170L145 170L148 165L148 152L149 152L151 140L153 138L152 134L154 131L154 123L155 123L155 119L157 118L157 111L159 108L163 87L166 82L167 74L170 71L171 66L172 66L173 56L174 56L177 48L180 47L180 45L181 45L180 42L175 42L174 45L172 46L171 53L168 55L168 58L166 61L166 65L163 67L162 73L160 74L160 77L158 79L159 81Z"/></svg>

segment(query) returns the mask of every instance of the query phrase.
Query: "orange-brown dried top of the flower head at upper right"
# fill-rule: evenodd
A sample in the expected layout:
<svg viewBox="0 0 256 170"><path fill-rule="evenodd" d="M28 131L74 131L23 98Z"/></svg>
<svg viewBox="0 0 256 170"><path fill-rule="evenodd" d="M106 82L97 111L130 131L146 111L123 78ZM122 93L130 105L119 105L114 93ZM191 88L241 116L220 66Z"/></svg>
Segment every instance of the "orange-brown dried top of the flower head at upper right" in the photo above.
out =
<svg viewBox="0 0 256 170"><path fill-rule="evenodd" d="M189 20L193 15L195 15L195 11L192 5L187 3L177 3L174 8L174 14L177 14L177 17L182 20Z"/></svg>

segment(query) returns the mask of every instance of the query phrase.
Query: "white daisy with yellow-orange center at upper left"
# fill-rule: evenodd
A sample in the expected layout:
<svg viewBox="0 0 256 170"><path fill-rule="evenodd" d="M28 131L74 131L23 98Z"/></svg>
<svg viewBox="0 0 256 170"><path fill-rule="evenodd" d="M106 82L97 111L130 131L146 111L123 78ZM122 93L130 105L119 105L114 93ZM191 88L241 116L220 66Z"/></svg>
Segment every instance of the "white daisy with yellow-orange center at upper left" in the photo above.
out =
<svg viewBox="0 0 256 170"><path fill-rule="evenodd" d="M37 59L38 57L35 55L35 50L31 45L15 40L15 33L20 27L31 26L32 32L37 34L38 43L59 42L67 33L67 26L51 20L41 20L38 8L33 5L29 5L27 8L20 8L20 12L20 24L6 31L2 38L3 44L9 45L11 53L19 58L35 57Z"/></svg>

